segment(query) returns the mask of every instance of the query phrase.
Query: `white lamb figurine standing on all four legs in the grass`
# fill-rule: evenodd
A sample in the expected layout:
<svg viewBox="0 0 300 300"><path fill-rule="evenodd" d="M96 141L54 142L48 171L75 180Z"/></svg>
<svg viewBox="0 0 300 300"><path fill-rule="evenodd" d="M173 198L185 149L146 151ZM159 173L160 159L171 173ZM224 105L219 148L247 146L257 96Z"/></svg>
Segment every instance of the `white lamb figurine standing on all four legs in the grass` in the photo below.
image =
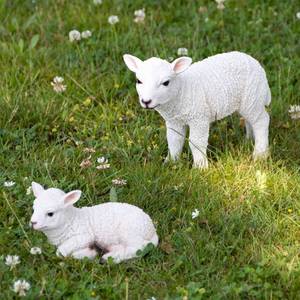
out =
<svg viewBox="0 0 300 300"><path fill-rule="evenodd" d="M241 52L218 54L192 65L189 57L172 63L156 57L141 61L128 54L123 58L136 74L141 106L157 110L166 121L172 160L179 158L189 126L194 166L207 167L209 125L235 111L246 121L247 138L255 139L254 159L268 155L270 118L265 106L271 93L257 60Z"/></svg>

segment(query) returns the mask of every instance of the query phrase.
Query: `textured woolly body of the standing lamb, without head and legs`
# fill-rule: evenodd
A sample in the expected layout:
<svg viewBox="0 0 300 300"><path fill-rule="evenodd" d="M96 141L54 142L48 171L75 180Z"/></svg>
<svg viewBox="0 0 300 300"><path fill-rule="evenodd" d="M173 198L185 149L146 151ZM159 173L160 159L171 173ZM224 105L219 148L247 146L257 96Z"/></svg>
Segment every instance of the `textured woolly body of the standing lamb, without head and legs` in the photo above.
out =
<svg viewBox="0 0 300 300"><path fill-rule="evenodd" d="M235 111L254 119L271 101L266 74L251 56L229 52L192 64L175 77L178 97L156 110L168 121L222 119Z"/></svg>

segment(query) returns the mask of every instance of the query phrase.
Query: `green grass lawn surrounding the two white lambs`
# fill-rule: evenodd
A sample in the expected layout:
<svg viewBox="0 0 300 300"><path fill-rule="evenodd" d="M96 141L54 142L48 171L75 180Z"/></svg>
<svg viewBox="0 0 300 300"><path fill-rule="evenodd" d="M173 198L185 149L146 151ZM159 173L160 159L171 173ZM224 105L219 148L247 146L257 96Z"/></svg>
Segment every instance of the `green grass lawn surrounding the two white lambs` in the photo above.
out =
<svg viewBox="0 0 300 300"><path fill-rule="evenodd" d="M199 6L208 11L199 13ZM300 123L297 1L0 1L0 295L13 282L31 284L28 299L300 299ZM145 24L133 22L145 7ZM107 23L116 14L120 22ZM93 32L68 41L74 28ZM191 169L185 148L176 164L167 154L163 120L143 110L122 54L194 61L229 50L257 58L272 90L272 157L251 160L252 145L236 116L214 124L210 168ZM65 78L56 94L50 82ZM89 97L90 100L86 100ZM94 147L93 166L81 169ZM95 169L106 156L111 169ZM266 176L260 179L260 171ZM81 189L78 205L109 201L121 177L119 201L143 208L156 223L160 247L113 265L56 257L43 234L28 227L32 180ZM3 187L13 180L15 186ZM191 218L192 211L200 211ZM43 249L32 256L32 246ZM7 254L20 256L13 270Z"/></svg>

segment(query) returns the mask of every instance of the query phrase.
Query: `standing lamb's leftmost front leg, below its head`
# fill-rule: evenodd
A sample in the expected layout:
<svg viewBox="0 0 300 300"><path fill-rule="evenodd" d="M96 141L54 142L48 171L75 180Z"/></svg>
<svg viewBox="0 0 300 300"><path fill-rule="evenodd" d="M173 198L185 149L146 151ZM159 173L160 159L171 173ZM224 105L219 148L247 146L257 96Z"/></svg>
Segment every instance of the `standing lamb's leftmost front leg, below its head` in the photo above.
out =
<svg viewBox="0 0 300 300"><path fill-rule="evenodd" d="M169 148L169 154L166 158L166 161L169 159L175 161L180 157L182 152L186 136L186 126L174 122L166 122L166 127Z"/></svg>

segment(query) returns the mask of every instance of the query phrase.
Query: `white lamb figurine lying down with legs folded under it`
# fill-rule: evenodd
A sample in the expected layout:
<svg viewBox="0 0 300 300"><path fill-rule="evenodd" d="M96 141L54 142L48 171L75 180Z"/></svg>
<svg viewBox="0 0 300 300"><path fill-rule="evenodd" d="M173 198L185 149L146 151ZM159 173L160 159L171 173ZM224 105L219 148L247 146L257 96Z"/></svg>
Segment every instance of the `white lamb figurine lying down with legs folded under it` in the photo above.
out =
<svg viewBox="0 0 300 300"><path fill-rule="evenodd" d="M106 252L103 260L112 257L119 263L136 257L149 243L158 244L150 217L136 206L110 202L76 208L81 191L64 193L35 182L32 191L32 227L45 233L62 256L94 258L101 249Z"/></svg>

